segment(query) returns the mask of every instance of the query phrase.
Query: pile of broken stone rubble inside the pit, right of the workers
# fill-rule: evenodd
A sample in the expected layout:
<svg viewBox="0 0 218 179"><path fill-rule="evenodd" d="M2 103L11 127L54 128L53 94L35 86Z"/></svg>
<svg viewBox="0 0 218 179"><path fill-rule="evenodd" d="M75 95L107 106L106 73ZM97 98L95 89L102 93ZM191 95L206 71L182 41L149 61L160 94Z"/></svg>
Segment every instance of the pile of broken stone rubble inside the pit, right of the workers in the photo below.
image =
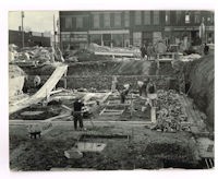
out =
<svg viewBox="0 0 218 179"><path fill-rule="evenodd" d="M154 129L166 132L186 130L182 122L187 121L187 116L174 91L158 91L157 105L157 124Z"/></svg>

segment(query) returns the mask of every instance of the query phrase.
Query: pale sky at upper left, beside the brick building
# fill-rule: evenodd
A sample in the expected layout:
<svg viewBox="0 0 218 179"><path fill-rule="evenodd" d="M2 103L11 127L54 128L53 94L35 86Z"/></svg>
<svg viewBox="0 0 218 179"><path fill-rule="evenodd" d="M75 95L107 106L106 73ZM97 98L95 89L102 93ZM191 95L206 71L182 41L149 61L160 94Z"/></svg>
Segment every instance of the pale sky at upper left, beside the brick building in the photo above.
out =
<svg viewBox="0 0 218 179"><path fill-rule="evenodd" d="M33 32L53 31L53 15L58 19L58 11L24 11L24 29ZM9 29L19 29L21 26L21 11L9 11Z"/></svg>

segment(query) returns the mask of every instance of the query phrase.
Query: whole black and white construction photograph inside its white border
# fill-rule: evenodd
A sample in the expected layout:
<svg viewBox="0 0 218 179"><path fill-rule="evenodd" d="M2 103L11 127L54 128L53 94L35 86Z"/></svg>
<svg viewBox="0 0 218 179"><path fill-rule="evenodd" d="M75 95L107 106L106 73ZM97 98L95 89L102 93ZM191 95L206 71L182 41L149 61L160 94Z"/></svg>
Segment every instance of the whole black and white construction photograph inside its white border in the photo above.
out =
<svg viewBox="0 0 218 179"><path fill-rule="evenodd" d="M215 168L214 10L21 10L8 24L11 171Z"/></svg>

